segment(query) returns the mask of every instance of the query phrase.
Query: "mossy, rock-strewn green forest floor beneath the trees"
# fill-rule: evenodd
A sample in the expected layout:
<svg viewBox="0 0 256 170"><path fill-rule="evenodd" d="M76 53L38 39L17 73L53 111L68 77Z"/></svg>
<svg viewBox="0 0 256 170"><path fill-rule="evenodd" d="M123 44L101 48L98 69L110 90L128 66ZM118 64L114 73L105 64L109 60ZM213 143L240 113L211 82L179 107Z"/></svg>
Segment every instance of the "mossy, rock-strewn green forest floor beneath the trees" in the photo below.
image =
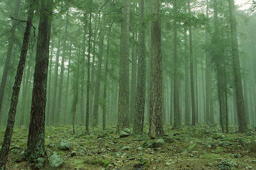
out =
<svg viewBox="0 0 256 170"><path fill-rule="evenodd" d="M146 134L120 137L115 126L90 134L77 127L76 135L70 126L46 127L45 141L48 155L55 152L64 160L55 169L256 169L256 132L236 130L230 127L229 134L222 134L218 125L181 130L165 126L164 140L150 140ZM26 128L14 130L7 169L33 169L23 158L27 136ZM3 137L1 130L1 145ZM62 139L71 143L69 150L59 149Z"/></svg>

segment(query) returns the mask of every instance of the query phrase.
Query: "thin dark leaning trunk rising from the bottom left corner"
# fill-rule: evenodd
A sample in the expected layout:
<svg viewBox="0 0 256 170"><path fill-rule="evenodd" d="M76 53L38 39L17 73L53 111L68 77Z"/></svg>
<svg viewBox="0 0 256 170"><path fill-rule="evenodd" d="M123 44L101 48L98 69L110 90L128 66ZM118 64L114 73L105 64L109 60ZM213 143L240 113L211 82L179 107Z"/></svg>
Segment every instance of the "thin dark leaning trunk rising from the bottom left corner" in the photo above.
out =
<svg viewBox="0 0 256 170"><path fill-rule="evenodd" d="M9 110L9 114L8 114L8 123L6 126L4 142L3 142L1 152L0 152L0 169L3 169L3 170L6 168L6 162L7 162L9 148L10 148L10 144L11 144L13 126L14 126L14 122L15 122L16 107L17 107L17 103L18 103L20 84L22 83L23 71L24 71L26 56L27 56L27 52L28 52L30 31L31 31L32 19L33 19L33 15L34 15L34 6L33 5L34 4L31 3L30 7L29 7L27 26L26 26L26 30L25 30L24 38L23 38L22 51L20 52L19 63L18 63L18 67L17 67L16 77L15 77L15 83L13 86L11 106L10 106L10 110Z"/></svg>

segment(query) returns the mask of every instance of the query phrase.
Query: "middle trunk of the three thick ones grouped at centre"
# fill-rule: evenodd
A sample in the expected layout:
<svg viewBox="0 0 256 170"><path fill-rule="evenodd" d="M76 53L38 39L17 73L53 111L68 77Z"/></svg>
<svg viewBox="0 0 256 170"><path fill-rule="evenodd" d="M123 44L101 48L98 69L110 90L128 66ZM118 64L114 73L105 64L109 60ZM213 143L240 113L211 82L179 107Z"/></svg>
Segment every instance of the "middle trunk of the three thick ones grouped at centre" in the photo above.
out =
<svg viewBox="0 0 256 170"><path fill-rule="evenodd" d="M139 54L137 71L137 90L133 132L137 135L143 134L144 111L145 111L145 85L146 85L146 38L145 24L143 22L145 14L145 0L139 1Z"/></svg>

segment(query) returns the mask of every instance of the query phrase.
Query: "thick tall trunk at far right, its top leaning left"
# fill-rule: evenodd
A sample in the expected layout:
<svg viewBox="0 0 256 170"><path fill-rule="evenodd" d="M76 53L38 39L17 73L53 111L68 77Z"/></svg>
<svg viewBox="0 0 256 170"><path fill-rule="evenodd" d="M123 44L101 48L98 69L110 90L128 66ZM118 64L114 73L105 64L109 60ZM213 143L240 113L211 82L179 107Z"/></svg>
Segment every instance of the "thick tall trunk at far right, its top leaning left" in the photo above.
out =
<svg viewBox="0 0 256 170"><path fill-rule="evenodd" d="M234 74L234 87L236 89L237 97L237 111L239 132L247 131L247 123L245 116L244 96L242 87L242 78L240 71L240 61L238 53L238 32L237 32L237 19L234 9L234 0L229 0L229 15L230 15L230 31L231 31L231 47L233 56L233 74Z"/></svg>

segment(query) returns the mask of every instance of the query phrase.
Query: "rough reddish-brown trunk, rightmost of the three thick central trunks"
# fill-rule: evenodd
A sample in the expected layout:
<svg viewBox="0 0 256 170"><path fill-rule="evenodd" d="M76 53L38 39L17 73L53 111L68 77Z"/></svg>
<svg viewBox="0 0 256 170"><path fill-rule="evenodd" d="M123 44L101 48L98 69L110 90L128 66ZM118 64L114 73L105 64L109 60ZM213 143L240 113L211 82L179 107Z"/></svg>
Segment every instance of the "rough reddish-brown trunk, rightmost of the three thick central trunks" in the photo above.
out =
<svg viewBox="0 0 256 170"><path fill-rule="evenodd" d="M151 1L151 88L150 88L150 125L148 135L151 138L163 136L162 117L162 55L160 1Z"/></svg>

